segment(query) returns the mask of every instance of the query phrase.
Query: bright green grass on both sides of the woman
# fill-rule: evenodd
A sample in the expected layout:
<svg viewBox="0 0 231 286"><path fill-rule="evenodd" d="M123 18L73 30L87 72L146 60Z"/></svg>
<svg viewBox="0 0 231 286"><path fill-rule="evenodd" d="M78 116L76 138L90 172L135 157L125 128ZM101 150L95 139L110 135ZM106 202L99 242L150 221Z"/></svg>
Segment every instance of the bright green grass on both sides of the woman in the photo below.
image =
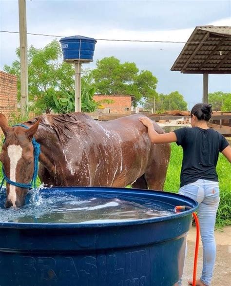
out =
<svg viewBox="0 0 231 286"><path fill-rule="evenodd" d="M167 172L164 190L177 193L180 185L180 170L183 158L183 150L176 143L171 144L171 158ZM231 225L231 165L222 155L219 155L216 167L219 186L220 204L216 217L216 226Z"/></svg>

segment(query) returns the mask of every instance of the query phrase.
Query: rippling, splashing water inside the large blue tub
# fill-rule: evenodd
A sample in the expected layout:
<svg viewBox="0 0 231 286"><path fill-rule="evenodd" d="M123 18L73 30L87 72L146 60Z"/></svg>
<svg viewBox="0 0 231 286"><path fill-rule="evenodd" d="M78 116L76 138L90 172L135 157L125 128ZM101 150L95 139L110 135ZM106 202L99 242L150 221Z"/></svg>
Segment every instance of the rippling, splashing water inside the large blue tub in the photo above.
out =
<svg viewBox="0 0 231 286"><path fill-rule="evenodd" d="M0 191L0 222L15 223L110 223L172 215L173 206L152 200L114 195L76 196L63 191L31 190L21 208L4 208Z"/></svg>

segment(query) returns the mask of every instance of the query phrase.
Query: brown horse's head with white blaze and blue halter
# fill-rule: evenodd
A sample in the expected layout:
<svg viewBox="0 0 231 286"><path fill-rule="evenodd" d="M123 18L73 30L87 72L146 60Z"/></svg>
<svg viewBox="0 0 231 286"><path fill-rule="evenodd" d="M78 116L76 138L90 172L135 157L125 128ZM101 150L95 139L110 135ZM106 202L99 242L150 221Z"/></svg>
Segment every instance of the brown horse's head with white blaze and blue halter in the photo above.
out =
<svg viewBox="0 0 231 286"><path fill-rule="evenodd" d="M0 114L0 127L5 135L0 153L3 175L7 179L5 207L22 206L33 177L35 160L32 139L39 127L39 121L28 129L21 126L10 127L5 116Z"/></svg>

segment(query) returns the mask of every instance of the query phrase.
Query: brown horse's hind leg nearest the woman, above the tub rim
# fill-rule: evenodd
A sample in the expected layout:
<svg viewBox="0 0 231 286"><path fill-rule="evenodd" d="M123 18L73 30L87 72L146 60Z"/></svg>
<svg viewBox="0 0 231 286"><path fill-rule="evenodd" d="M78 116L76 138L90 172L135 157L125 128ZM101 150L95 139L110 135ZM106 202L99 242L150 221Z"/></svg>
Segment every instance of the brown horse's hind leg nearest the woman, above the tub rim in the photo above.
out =
<svg viewBox="0 0 231 286"><path fill-rule="evenodd" d="M163 191L170 160L169 144L153 144L144 178L151 190Z"/></svg>

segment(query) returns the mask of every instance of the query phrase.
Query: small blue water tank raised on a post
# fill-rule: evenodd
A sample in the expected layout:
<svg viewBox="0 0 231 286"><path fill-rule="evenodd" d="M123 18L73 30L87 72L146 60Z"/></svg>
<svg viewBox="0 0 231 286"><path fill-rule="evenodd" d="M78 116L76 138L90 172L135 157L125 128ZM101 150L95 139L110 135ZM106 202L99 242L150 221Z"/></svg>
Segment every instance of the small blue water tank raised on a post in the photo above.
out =
<svg viewBox="0 0 231 286"><path fill-rule="evenodd" d="M59 40L64 61L93 61L96 40L83 36L66 37Z"/></svg>

